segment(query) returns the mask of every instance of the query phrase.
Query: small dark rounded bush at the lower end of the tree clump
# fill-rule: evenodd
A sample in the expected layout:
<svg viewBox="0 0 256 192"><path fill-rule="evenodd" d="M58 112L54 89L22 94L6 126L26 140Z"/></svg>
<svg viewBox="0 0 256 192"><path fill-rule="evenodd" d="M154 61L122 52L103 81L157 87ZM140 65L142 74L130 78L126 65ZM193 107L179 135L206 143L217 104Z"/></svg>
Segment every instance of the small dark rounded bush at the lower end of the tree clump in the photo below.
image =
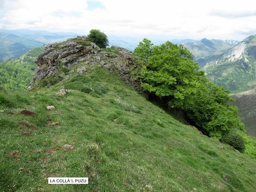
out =
<svg viewBox="0 0 256 192"><path fill-rule="evenodd" d="M233 146L240 152L243 152L245 149L243 137L239 135L236 130L232 130L227 134L223 135L221 141L224 142L225 144Z"/></svg>

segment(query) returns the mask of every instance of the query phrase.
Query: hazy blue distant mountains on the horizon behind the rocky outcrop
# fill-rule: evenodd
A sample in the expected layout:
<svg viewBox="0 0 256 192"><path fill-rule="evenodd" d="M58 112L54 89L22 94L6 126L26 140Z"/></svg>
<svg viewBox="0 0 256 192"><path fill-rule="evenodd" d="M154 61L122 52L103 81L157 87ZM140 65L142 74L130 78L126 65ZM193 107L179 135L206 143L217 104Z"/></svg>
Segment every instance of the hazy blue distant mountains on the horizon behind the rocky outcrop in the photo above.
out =
<svg viewBox="0 0 256 192"><path fill-rule="evenodd" d="M86 34L79 34L86 35ZM0 62L17 58L28 52L34 47L40 47L53 42L65 41L67 38L76 37L77 33L71 32L48 32L33 31L28 29L6 30L0 29ZM108 36L109 44L127 48L133 51L134 48L142 41L142 37L131 36ZM168 39L159 40L155 38L152 42L155 45L164 43ZM173 43L183 44L191 43L195 40L171 40Z"/></svg>

